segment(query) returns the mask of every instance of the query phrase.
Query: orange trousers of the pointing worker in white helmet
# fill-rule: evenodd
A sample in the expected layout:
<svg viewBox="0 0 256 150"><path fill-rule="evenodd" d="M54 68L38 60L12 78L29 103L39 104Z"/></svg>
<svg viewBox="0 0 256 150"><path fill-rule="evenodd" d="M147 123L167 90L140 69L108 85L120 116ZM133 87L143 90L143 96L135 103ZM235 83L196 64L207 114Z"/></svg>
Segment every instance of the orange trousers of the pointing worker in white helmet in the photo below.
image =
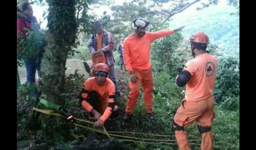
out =
<svg viewBox="0 0 256 150"><path fill-rule="evenodd" d="M142 82L146 113L152 113L152 92L154 89L152 67L150 67L148 70L140 70L136 67L132 68L138 79L136 83L132 83L131 81L129 81L130 93L127 97L127 106L125 112L126 114L131 114L130 111L134 110L140 93L140 82Z"/></svg>

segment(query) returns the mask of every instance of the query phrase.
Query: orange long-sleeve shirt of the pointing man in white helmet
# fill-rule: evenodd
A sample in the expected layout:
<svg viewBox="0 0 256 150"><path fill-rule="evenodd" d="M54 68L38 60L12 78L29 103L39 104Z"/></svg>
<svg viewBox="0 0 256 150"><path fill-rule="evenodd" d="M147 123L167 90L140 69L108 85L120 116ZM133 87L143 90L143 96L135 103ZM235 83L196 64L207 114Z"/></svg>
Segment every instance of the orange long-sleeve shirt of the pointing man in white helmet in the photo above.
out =
<svg viewBox="0 0 256 150"><path fill-rule="evenodd" d="M136 38L129 35L123 41L123 61L128 72L132 71L132 66L141 70L151 67L150 44L158 38L162 38L174 33L174 30L160 30L158 32L146 32L143 38Z"/></svg>

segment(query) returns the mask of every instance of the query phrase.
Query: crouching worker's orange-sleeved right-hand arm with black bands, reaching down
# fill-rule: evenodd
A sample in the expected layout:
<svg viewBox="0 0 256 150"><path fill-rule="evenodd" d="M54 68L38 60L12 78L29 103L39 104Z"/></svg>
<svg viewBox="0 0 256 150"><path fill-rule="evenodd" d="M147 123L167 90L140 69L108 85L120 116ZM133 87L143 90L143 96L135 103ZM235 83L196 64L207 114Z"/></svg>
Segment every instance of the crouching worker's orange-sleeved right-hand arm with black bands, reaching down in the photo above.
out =
<svg viewBox="0 0 256 150"><path fill-rule="evenodd" d="M116 104L115 85L113 83L110 85L110 87L108 87L108 107L106 108L103 115L100 117L100 120L102 122L105 122L108 119L108 117L111 115L112 111L114 111L115 104Z"/></svg>

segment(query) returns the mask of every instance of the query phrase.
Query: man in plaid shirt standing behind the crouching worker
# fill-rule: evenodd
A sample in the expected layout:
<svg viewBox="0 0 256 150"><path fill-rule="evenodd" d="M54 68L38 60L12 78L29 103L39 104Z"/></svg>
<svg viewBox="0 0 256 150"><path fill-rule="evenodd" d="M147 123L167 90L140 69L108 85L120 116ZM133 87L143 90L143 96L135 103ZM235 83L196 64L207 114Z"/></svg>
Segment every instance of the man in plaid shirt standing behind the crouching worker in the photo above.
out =
<svg viewBox="0 0 256 150"><path fill-rule="evenodd" d="M114 39L113 35L103 29L102 23L97 20L93 24L93 30L96 33L90 37L88 48L92 55L96 52L103 52L109 65L109 78L114 82L116 95L120 96L120 91L115 78L115 60L114 60Z"/></svg>

